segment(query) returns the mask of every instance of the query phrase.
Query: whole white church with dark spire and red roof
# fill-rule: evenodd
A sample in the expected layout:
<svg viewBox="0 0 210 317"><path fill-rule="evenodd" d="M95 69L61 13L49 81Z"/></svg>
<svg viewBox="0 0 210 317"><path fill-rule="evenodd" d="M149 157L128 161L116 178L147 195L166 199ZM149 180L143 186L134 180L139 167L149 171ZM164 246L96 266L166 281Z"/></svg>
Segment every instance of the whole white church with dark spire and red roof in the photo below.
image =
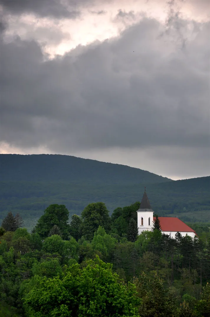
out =
<svg viewBox="0 0 210 317"><path fill-rule="evenodd" d="M151 208L149 199L146 194L146 189L141 200L140 208L137 210L137 225L138 234L142 231L151 231L153 227L153 210ZM179 218L175 217L158 217L160 220L160 226L163 233L169 235L171 238L175 237L176 232L180 232L182 236L191 236L194 238L197 236L196 232L183 223Z"/></svg>

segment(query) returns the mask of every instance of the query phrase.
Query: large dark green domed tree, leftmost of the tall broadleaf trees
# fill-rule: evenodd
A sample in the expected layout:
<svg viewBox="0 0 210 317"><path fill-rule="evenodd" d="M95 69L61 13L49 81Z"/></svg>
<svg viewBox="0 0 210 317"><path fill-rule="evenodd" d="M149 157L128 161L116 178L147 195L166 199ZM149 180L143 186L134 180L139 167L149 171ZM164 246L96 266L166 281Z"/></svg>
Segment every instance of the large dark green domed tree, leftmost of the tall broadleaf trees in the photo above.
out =
<svg viewBox="0 0 210 317"><path fill-rule="evenodd" d="M49 236L50 231L56 225L64 239L68 239L69 236L69 211L65 205L52 204L46 208L44 215L42 215L37 225L35 226L35 232L40 235L41 238Z"/></svg>

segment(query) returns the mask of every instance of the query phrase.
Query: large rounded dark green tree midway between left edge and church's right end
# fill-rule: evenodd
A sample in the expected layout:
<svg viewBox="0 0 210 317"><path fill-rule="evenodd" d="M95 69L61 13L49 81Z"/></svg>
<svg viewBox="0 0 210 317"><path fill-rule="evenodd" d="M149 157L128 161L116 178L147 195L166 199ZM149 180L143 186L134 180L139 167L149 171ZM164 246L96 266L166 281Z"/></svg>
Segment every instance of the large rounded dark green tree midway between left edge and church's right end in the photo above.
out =
<svg viewBox="0 0 210 317"><path fill-rule="evenodd" d="M92 240L94 232L102 226L106 232L110 230L111 219L104 203L92 203L82 212L82 234L87 240Z"/></svg>

